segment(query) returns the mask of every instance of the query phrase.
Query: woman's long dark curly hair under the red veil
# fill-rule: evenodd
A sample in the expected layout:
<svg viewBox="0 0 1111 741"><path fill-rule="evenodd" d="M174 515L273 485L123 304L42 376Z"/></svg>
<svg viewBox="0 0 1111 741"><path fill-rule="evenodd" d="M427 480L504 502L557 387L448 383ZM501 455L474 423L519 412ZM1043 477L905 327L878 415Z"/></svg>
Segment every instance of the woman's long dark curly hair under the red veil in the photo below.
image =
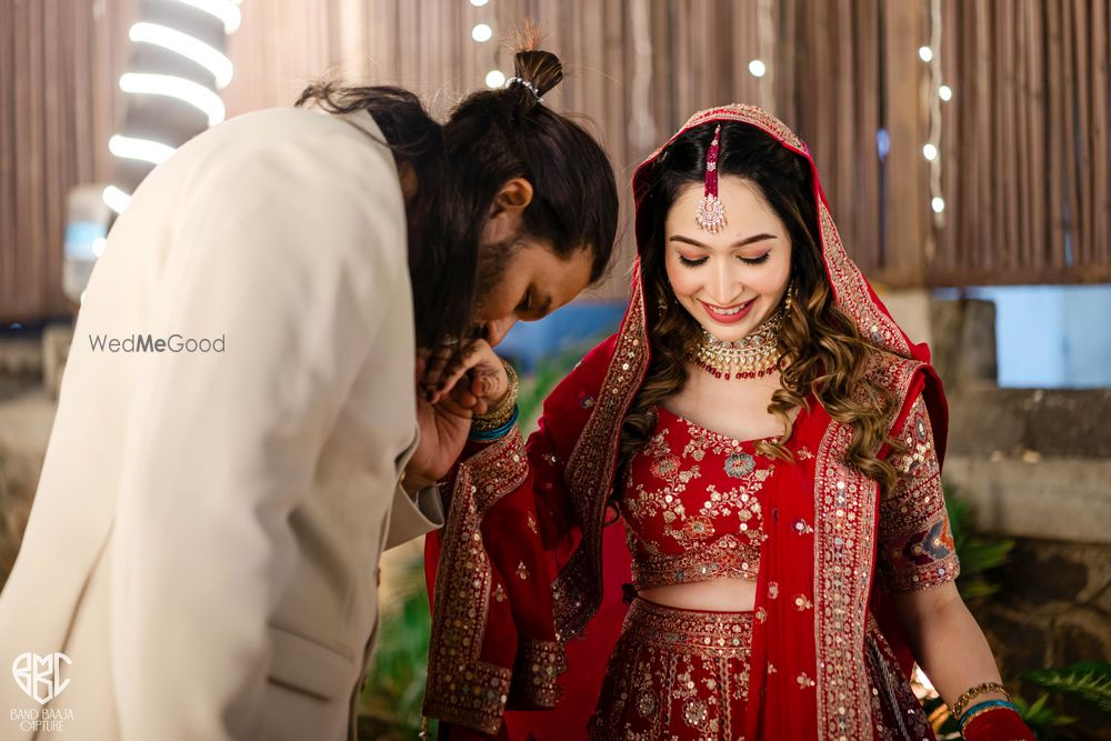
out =
<svg viewBox="0 0 1111 741"><path fill-rule="evenodd" d="M658 158L649 192L641 209L648 209L649 241L641 249L644 306L655 312L650 321L651 363L643 385L625 415L620 443L619 470L648 441L655 422L655 407L678 393L687 382L689 348L697 343L701 327L675 301L665 269L664 223L671 204L683 187L701 184L705 152L715 123L691 129ZM852 440L845 462L878 481L884 491L895 484L898 472L877 458L887 443L904 447L888 434L888 421L898 399L868 374L869 357L878 350L861 337L855 324L833 302L819 246L817 204L808 162L755 127L721 124L718 172L753 183L787 227L791 239L791 280L794 299L780 332L782 351L780 383L772 394L769 413L783 422L778 440L761 441L767 455L793 460L784 447L791 437L791 412L809 404L813 394L829 415L851 424ZM620 488L618 488L620 491Z"/></svg>

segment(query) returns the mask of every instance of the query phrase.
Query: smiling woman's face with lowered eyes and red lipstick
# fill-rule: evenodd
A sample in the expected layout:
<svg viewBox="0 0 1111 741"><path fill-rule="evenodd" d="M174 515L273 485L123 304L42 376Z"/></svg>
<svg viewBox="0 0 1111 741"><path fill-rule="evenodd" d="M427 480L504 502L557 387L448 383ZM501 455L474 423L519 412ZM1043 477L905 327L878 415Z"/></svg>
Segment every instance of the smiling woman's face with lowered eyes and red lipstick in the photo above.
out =
<svg viewBox="0 0 1111 741"><path fill-rule="evenodd" d="M679 191L664 224L664 264L679 303L710 334L735 342L775 311L791 278L791 238L760 189L723 176L718 198L727 226L718 232L694 223L703 186Z"/></svg>

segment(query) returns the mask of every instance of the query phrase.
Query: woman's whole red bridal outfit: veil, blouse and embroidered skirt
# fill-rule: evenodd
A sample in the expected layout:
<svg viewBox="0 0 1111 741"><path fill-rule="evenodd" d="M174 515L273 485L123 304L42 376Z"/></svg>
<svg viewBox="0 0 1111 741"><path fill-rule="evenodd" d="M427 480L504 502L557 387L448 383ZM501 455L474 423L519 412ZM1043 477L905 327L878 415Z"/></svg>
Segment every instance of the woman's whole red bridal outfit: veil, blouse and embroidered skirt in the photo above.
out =
<svg viewBox="0 0 1111 741"><path fill-rule="evenodd" d="M703 111L679 133L723 121L810 159L751 107ZM633 178L640 249L665 147ZM650 351L638 270L620 331L551 393L528 443L516 430L471 443L451 477L448 521L427 550L426 714L441 720L441 738L933 738L890 595L958 572L940 484L944 395L929 351L845 256L812 162L811 172L837 306L873 348L869 377L901 400L889 429L910 452L878 452L904 473L900 484L881 499L847 465L852 430L813 398L787 443L793 462L661 408L618 481L621 421ZM625 538L608 510L614 492ZM751 579L755 603L723 613L633 598L627 608L630 577L630 593Z"/></svg>

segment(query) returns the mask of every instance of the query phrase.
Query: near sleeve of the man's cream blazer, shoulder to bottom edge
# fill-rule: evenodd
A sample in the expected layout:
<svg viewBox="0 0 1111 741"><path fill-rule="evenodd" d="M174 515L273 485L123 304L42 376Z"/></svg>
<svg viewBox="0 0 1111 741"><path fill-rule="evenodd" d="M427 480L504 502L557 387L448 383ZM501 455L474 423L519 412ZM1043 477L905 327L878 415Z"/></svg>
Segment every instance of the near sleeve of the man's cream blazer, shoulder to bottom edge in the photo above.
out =
<svg viewBox="0 0 1111 741"><path fill-rule="evenodd" d="M224 352L153 358L137 389L112 561L126 739L258 738L268 618L297 559L290 514L383 309L410 300L389 152L319 128L241 142L173 213L150 322L222 337ZM140 188L130 208L144 203Z"/></svg>

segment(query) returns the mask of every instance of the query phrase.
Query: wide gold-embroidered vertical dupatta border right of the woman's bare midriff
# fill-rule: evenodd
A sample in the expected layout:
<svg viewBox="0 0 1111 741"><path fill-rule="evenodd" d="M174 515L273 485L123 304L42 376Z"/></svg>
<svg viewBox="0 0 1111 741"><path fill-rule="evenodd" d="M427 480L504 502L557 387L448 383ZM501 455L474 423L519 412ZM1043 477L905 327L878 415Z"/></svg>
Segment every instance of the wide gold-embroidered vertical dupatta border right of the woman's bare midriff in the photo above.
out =
<svg viewBox="0 0 1111 741"><path fill-rule="evenodd" d="M869 377L905 400L923 363L871 357ZM904 402L905 403L905 402ZM888 424L900 409L895 408ZM844 462L852 427L833 421L814 467L814 647L819 738L871 739L864 639L879 514L879 484Z"/></svg>

